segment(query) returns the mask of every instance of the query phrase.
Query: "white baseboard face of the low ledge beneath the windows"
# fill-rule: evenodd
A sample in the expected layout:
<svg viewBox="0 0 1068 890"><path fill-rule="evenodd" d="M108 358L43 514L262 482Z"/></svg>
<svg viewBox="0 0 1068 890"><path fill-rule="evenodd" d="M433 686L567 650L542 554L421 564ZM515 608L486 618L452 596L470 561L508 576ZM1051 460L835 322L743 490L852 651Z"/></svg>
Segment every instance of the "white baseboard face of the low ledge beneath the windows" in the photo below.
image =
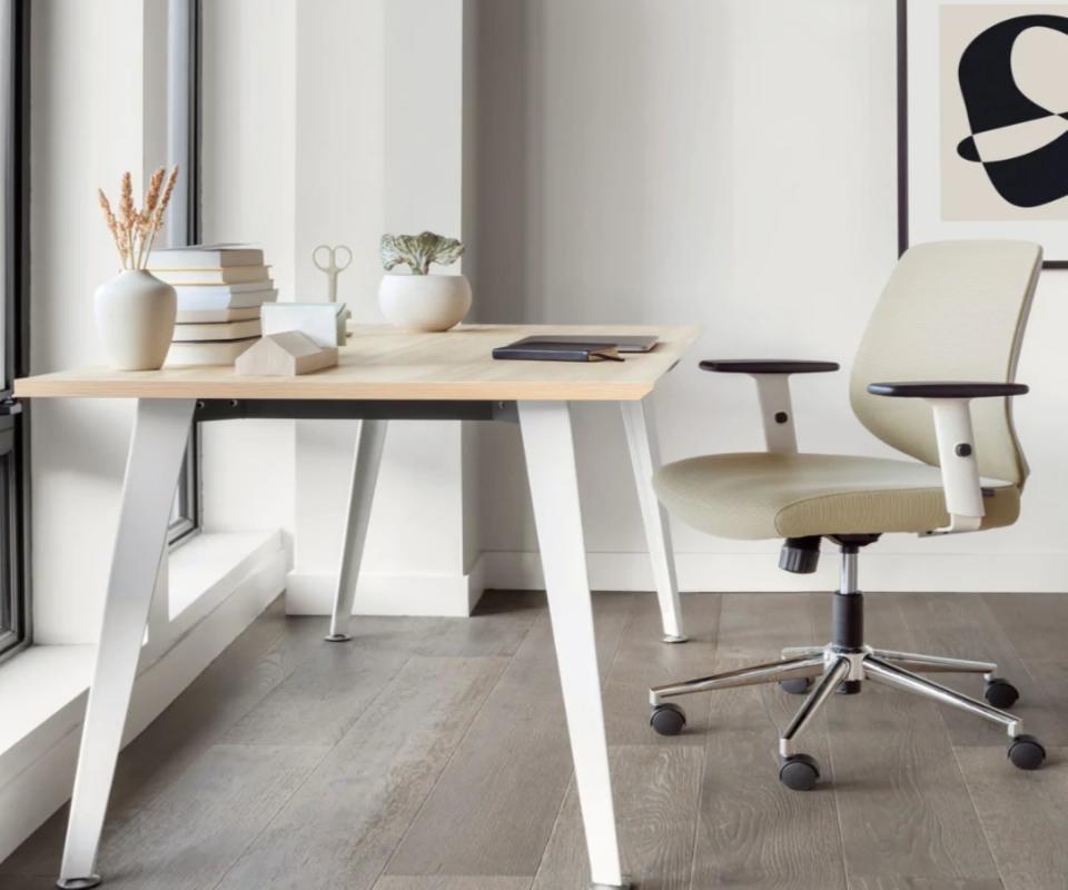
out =
<svg viewBox="0 0 1068 890"><path fill-rule="evenodd" d="M240 633L281 593L289 556L275 535L277 546L257 547L245 562L244 572L230 572L230 589L219 595L217 605L199 617L141 673L134 688L123 745L151 723ZM218 583L212 594L219 593ZM41 649L70 649L50 646ZM27 731L18 745L0 752L0 861L33 833L56 810L70 799L75 767L85 716L88 664L83 683L69 692L69 701L39 725ZM28 652L33 652L33 649ZM150 653L146 653L151 657ZM17 655L4 665L14 665ZM144 659L142 659L144 662ZM29 755L29 756L28 756ZM4 761L14 769L2 769ZM59 862L56 863L57 871Z"/></svg>

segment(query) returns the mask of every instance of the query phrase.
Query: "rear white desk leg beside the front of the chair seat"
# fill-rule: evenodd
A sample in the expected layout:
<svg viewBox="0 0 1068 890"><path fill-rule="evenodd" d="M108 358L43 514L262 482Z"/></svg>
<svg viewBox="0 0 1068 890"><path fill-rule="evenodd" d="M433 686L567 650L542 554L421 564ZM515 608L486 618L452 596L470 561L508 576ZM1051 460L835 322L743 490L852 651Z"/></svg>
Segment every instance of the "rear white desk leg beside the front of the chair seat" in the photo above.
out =
<svg viewBox="0 0 1068 890"><path fill-rule="evenodd" d="M626 444L631 449L634 467L634 484L642 506L645 524L645 542L653 563L653 578L660 597L660 615L664 627L665 643L684 643L682 606L679 603L679 581L675 577L675 558L671 548L671 528L668 511L656 500L653 491L653 474L660 468L660 439L656 422L649 397L641 402L621 402Z"/></svg>

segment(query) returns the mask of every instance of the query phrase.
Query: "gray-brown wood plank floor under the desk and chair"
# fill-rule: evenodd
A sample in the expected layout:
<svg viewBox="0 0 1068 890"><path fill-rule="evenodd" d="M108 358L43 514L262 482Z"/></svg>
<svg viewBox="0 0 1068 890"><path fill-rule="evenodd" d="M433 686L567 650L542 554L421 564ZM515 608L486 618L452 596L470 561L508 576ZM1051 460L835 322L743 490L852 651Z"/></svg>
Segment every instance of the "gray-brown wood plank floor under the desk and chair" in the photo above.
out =
<svg viewBox="0 0 1068 890"><path fill-rule="evenodd" d="M700 696L688 733L661 739L646 686L821 642L828 597L684 597L694 639L668 646L651 595L599 595L624 867L642 890L1068 888L1068 596L868 605L876 645L999 661L1047 768L1015 770L1000 729L869 684L833 696L808 736L823 785L787 791L777 728L799 699ZM274 607L128 748L106 887L584 890L543 597L360 619L345 645L325 629ZM0 888L52 886L65 821L0 863Z"/></svg>

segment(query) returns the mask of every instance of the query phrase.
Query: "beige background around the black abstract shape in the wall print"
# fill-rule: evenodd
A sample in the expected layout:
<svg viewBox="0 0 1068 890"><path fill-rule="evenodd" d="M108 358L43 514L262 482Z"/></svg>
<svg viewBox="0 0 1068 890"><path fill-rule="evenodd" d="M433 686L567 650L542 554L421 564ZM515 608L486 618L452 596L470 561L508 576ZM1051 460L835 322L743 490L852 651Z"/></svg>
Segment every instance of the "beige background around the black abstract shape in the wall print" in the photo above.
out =
<svg viewBox="0 0 1068 890"><path fill-rule="evenodd" d="M941 184L942 219L947 221L978 220L1036 220L1068 219L1068 197L1042 207L1015 207L1006 201L990 184L981 164L967 161L957 154L961 139L970 135L965 101L960 95L957 79L957 65L965 48L980 32L1005 19L1028 14L1052 14L1068 17L1068 4L969 4L943 6L940 13L939 33L939 81L941 90ZM1068 110L1068 34L1050 29L1041 29L1035 34L1046 46L1054 40L1062 41L1062 52L1044 52L1040 56L1018 56L1013 59L1013 71L1024 82L1046 82L1049 92L1039 97L1032 95L1042 107L1046 101L1061 98L1062 105L1051 110ZM1056 34L1056 37L1051 37ZM1027 39L1027 34L1021 37ZM1029 67L1024 67L1025 63ZM933 88L934 85L932 85Z"/></svg>

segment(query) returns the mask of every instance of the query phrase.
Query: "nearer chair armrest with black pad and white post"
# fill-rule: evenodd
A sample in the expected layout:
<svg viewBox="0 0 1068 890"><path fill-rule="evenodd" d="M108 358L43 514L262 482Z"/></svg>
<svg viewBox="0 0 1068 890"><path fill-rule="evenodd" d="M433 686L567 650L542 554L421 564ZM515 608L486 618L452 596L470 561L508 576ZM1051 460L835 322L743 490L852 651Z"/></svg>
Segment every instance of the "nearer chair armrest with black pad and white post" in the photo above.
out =
<svg viewBox="0 0 1068 890"><path fill-rule="evenodd" d="M1021 383L978 383L969 380L872 383L868 392L893 398L922 398L934 415L938 463L942 471L942 491L949 525L930 534L976 532L982 525L986 507L976 457L976 435L971 424L971 399L991 396L1019 396L1028 392Z"/></svg>

